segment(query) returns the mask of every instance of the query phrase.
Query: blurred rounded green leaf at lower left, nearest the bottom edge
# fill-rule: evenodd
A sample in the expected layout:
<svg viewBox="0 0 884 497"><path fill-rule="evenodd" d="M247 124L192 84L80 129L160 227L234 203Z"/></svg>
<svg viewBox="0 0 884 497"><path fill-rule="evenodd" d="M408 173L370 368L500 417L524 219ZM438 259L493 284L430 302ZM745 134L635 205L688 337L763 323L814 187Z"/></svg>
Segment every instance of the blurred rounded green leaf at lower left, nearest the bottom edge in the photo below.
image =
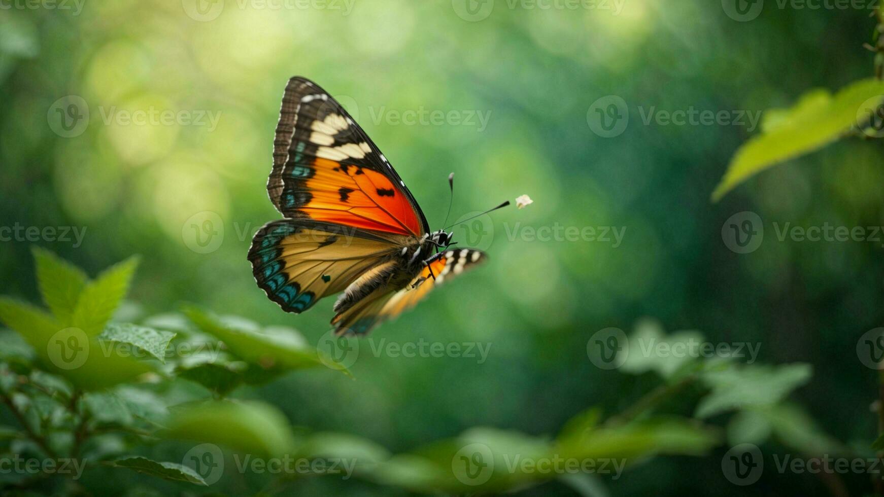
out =
<svg viewBox="0 0 884 497"><path fill-rule="evenodd" d="M212 402L172 410L171 439L211 442L247 454L267 457L291 455L295 447L286 417L265 403Z"/></svg>

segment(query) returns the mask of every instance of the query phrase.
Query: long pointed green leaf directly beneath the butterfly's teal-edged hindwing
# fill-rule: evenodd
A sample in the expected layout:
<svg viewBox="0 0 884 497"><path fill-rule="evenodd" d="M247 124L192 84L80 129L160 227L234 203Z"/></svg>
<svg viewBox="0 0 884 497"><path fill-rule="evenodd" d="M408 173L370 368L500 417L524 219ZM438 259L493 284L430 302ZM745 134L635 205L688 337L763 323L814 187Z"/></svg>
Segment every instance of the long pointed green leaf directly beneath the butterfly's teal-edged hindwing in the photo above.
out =
<svg viewBox="0 0 884 497"><path fill-rule="evenodd" d="M202 331L224 342L232 355L254 366L251 369L284 373L289 370L327 367L320 360L316 347L309 346L300 335L291 331L268 328L262 333L249 321L241 318L218 318L195 307L188 307L184 313ZM349 374L343 365L338 370ZM253 374L248 378L265 381L272 378L272 375Z"/></svg>

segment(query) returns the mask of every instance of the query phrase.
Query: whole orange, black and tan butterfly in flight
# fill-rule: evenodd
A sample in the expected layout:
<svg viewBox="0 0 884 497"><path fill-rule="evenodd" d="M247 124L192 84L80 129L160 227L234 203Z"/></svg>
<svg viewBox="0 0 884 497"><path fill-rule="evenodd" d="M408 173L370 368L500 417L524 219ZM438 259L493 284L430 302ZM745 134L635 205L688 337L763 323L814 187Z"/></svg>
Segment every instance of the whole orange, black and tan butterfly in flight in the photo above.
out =
<svg viewBox="0 0 884 497"><path fill-rule="evenodd" d="M255 282L288 313L342 292L331 319L339 335L368 333L486 259L430 231L385 155L309 79L289 79L283 94L267 192L285 218L252 240Z"/></svg>

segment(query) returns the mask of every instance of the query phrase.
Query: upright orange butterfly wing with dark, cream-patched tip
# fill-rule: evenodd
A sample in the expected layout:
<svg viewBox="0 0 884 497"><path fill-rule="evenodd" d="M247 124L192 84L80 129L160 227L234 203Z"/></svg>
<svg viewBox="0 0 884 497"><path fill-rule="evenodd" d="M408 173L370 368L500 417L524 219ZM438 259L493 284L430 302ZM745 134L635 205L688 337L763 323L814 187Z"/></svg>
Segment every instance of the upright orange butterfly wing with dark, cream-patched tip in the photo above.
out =
<svg viewBox="0 0 884 497"><path fill-rule="evenodd" d="M286 86L267 190L286 217L415 237L429 231L384 154L309 79L295 77Z"/></svg>

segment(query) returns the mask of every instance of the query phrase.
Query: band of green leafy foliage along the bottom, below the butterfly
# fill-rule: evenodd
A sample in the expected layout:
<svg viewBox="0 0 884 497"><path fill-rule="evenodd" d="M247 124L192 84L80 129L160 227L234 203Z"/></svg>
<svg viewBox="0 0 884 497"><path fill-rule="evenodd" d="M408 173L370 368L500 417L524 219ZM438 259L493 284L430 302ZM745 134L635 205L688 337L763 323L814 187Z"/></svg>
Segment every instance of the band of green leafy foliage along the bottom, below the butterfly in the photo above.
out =
<svg viewBox="0 0 884 497"><path fill-rule="evenodd" d="M602 474L605 471L596 465L612 464L608 470L616 469L619 475L648 457L700 456L722 443L713 425L655 412L663 400L689 384L703 390L696 403L697 418L734 413L727 429L731 442L763 443L775 436L810 453L843 448L786 402L789 393L809 379L809 366L741 365L735 358L649 353L649 346L677 350L702 343L704 337L696 331L666 335L658 324L645 320L629 337L621 368L624 373L653 373L663 382L629 410L605 418L593 406L568 420L555 438L476 427L392 455L352 434L294 428L268 403L208 400L205 390L182 396L175 387L181 380L193 381L223 397L283 373L326 366L347 372L319 356L296 331L261 328L194 306L183 315L164 314L141 324L108 322L133 277L134 259L89 282L80 269L50 252L35 251L34 257L52 313L0 299L0 320L17 334L0 333L0 344L5 345L0 350L0 398L20 424L20 429L0 426L0 448L27 443L43 456L81 455L105 468L182 485L210 486L217 478L209 480L187 465L137 452L156 442L190 441L248 458L351 461L354 476L421 493L501 493L565 477L572 486L599 488L597 479L575 479L573 471L561 468L545 471L544 464L576 462L582 464L578 470ZM89 334L65 328L64 320L87 327ZM100 334L95 333L99 325ZM59 330L69 328L82 335L90 351L75 367L60 363L52 347ZM148 372L153 374L143 374ZM305 474L334 471L309 466Z"/></svg>

